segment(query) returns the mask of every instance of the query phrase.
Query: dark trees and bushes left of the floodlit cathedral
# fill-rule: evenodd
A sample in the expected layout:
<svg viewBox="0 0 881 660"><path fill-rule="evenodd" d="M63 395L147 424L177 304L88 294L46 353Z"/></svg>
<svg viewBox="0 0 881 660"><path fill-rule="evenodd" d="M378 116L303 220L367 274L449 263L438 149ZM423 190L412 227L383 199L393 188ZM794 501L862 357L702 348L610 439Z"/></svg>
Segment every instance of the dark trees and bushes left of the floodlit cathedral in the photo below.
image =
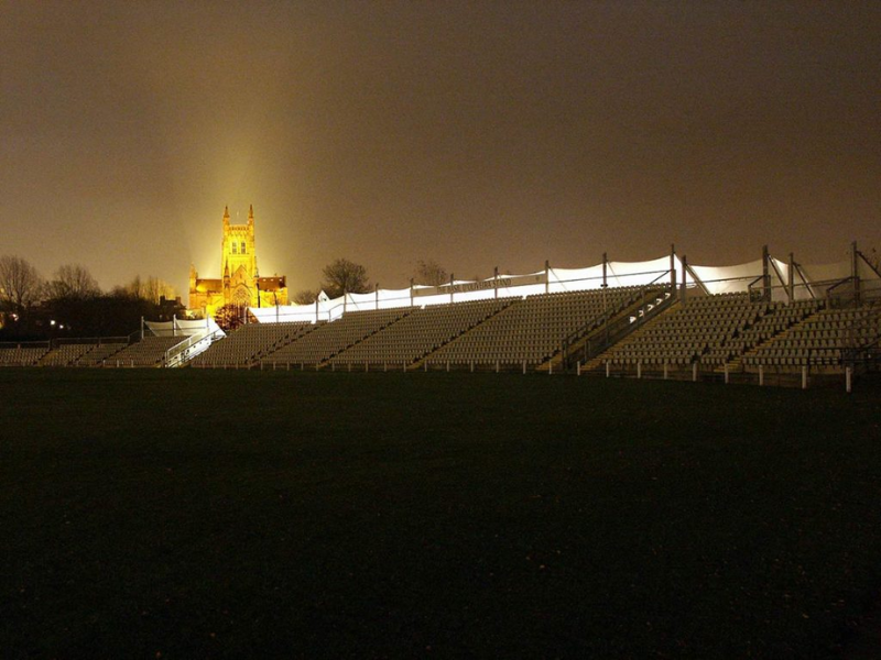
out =
<svg viewBox="0 0 881 660"><path fill-rule="evenodd" d="M0 341L123 337L142 317L168 320L180 309L159 277L139 275L104 292L83 265L65 264L46 279L24 258L0 256Z"/></svg>

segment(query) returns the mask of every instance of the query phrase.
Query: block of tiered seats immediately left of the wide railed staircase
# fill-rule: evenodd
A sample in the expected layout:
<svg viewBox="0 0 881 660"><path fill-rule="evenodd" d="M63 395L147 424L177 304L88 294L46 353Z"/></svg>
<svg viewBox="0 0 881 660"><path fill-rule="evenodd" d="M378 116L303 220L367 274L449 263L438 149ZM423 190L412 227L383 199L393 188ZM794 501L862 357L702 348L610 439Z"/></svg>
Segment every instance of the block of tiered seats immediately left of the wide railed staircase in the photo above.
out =
<svg viewBox="0 0 881 660"><path fill-rule="evenodd" d="M542 364L562 342L606 311L619 311L638 287L529 296L428 356L429 364ZM603 302L605 300L605 302Z"/></svg>

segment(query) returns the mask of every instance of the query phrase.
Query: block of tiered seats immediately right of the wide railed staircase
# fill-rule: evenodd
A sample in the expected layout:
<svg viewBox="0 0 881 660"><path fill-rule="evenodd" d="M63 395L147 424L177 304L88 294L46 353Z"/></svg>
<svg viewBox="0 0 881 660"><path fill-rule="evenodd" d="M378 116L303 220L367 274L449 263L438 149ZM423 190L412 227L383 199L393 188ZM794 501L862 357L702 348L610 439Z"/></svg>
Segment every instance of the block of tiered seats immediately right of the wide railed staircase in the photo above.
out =
<svg viewBox="0 0 881 660"><path fill-rule="evenodd" d="M614 346L612 364L720 365L732 356L731 341L769 311L768 302L750 302L747 294L689 298L684 307Z"/></svg>

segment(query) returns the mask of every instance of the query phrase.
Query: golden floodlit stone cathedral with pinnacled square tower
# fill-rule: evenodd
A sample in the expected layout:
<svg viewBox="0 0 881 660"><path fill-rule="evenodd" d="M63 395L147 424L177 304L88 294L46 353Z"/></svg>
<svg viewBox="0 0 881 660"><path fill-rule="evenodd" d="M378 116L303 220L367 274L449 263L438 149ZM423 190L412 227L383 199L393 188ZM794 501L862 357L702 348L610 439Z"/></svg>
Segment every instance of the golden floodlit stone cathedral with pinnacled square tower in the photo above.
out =
<svg viewBox="0 0 881 660"><path fill-rule="evenodd" d="M285 277L260 277L254 244L254 207L248 209L247 224L231 224L229 207L224 209L224 239L220 244L220 278L205 279L189 267L189 310L214 316L224 305L273 307L287 305Z"/></svg>

